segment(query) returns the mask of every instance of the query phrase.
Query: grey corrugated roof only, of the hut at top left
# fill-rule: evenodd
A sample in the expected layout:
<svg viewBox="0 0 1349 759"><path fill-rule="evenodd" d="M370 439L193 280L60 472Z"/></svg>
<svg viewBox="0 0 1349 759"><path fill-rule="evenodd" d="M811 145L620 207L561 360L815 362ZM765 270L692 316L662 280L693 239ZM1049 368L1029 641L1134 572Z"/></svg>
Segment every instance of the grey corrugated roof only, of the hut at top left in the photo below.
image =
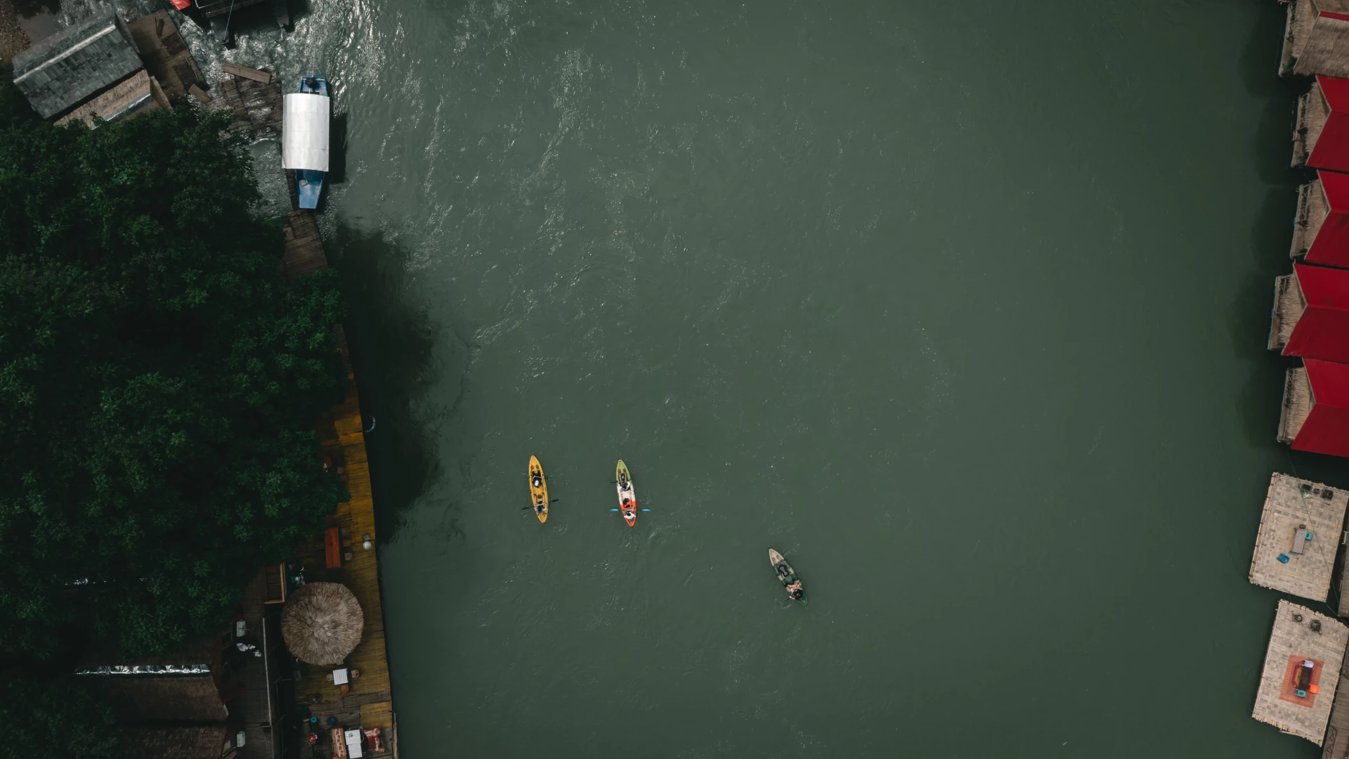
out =
<svg viewBox="0 0 1349 759"><path fill-rule="evenodd" d="M71 24L13 57L13 84L49 119L142 69L121 19Z"/></svg>

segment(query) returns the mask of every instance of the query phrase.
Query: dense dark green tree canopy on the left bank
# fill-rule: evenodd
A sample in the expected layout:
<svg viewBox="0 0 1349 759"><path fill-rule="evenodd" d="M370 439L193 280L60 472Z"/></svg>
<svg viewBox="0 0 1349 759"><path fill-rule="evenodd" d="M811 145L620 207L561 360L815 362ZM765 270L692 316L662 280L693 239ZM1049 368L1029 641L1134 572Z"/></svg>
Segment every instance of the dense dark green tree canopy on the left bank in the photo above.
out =
<svg viewBox="0 0 1349 759"><path fill-rule="evenodd" d="M3 650L213 632L344 497L313 432L345 388L336 285L279 276L225 123L0 112Z"/></svg>

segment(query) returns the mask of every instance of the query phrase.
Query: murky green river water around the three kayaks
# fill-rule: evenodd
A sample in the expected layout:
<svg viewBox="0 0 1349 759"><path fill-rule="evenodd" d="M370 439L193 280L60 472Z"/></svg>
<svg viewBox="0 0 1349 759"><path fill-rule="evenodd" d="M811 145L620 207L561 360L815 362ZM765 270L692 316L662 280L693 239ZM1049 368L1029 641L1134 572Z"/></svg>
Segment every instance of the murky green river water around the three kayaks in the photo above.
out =
<svg viewBox="0 0 1349 759"><path fill-rule="evenodd" d="M1349 485L1273 442L1282 14L241 20L335 82L401 754L1317 756L1249 716L1269 473Z"/></svg>

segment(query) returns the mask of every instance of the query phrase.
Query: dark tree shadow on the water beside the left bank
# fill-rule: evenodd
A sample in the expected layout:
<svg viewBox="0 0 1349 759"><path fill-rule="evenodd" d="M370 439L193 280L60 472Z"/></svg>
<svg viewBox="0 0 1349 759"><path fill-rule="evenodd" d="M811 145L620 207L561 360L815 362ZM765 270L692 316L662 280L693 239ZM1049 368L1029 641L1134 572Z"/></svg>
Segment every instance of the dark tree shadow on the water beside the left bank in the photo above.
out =
<svg viewBox="0 0 1349 759"><path fill-rule="evenodd" d="M432 373L434 330L407 301L409 251L378 231L339 224L329 250L347 297L347 339L360 392L380 543L402 525L407 506L436 474L428 431L413 407Z"/></svg>

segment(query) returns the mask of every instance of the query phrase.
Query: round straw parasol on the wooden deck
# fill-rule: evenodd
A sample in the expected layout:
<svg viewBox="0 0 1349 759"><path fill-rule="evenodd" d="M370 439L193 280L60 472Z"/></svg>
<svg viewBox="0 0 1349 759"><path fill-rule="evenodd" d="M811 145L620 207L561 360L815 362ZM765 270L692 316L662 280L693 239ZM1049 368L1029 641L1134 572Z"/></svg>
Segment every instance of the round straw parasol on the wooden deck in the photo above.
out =
<svg viewBox="0 0 1349 759"><path fill-rule="evenodd" d="M340 664L360 643L364 627L360 602L336 582L301 586L281 612L286 648L310 664Z"/></svg>

